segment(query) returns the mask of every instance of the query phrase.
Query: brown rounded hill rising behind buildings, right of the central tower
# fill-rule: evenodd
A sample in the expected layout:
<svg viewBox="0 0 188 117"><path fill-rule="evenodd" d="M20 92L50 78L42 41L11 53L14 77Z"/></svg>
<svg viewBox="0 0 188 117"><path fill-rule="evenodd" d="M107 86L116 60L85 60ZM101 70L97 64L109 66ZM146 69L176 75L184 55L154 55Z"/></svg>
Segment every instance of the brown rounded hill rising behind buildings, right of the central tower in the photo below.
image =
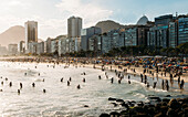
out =
<svg viewBox="0 0 188 117"><path fill-rule="evenodd" d="M112 20L101 21L95 26L101 28L102 33L108 32L108 31L114 30L114 29L124 28L124 25L122 25L122 24L119 24L117 22L114 22Z"/></svg>

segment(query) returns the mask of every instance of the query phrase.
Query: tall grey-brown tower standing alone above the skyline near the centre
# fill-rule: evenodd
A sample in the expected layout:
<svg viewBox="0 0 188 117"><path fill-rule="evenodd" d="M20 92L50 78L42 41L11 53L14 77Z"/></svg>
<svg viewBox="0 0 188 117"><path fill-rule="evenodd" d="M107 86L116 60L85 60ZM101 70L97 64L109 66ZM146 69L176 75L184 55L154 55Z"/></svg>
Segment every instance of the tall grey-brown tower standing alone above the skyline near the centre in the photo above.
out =
<svg viewBox="0 0 188 117"><path fill-rule="evenodd" d="M80 38L82 29L82 19L71 17L67 19L67 38Z"/></svg>

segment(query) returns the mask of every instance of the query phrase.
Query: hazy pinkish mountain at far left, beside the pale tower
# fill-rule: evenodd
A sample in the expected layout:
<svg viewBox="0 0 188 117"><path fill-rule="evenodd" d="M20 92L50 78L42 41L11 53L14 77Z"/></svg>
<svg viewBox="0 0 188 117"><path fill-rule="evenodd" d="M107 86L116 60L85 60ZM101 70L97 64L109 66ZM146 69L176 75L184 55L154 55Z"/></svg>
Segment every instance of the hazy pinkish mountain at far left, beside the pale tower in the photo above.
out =
<svg viewBox="0 0 188 117"><path fill-rule="evenodd" d="M0 34L0 44L8 46L9 44L18 44L20 41L24 41L24 28L15 25Z"/></svg>

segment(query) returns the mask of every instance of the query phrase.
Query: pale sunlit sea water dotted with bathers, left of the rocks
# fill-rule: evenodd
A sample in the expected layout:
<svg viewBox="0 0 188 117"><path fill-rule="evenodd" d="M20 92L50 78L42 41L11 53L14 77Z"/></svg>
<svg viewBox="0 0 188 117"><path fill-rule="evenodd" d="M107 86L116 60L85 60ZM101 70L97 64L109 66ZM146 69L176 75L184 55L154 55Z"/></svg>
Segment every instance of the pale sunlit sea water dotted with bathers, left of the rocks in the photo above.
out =
<svg viewBox="0 0 188 117"><path fill-rule="evenodd" d="M35 67L36 66L36 67ZM138 76L130 75L132 84L128 84L127 75L121 84L114 72L105 72L88 67L75 67L71 65L54 65L49 63L11 63L0 62L0 115L1 116L100 116L102 113L121 110L122 107L108 102L108 97L124 100L148 102L148 95L179 96L181 93L159 88L147 88L140 83ZM83 75L83 73L86 75ZM39 75L40 73L40 75ZM98 75L102 79L98 79ZM6 81L6 77L8 81ZM63 77L63 82L61 78ZM72 78L70 86L67 81ZM111 78L114 77L114 83ZM83 83L83 78L86 79ZM44 82L43 82L44 79ZM150 83L153 82L149 78ZM12 82L12 86L9 83ZM161 81L160 81L161 82ZM20 95L20 83L23 84ZM35 83L35 87L32 87ZM76 86L80 84L81 89ZM187 84L186 84L187 86ZM187 87L186 87L187 88ZM43 89L46 93L43 93ZM88 107L85 107L88 106Z"/></svg>

